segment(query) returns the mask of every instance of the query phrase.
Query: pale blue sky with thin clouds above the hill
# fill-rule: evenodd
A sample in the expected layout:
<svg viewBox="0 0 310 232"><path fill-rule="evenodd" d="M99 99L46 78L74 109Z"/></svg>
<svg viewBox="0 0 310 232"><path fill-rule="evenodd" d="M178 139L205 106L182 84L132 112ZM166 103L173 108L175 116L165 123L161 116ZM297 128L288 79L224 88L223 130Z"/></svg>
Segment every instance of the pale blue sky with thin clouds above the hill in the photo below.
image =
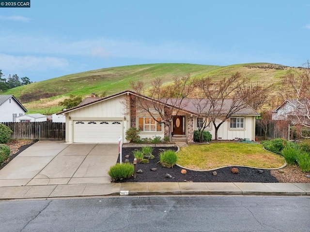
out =
<svg viewBox="0 0 310 232"><path fill-rule="evenodd" d="M309 0L31 0L0 8L0 69L41 81L147 63L301 66Z"/></svg>

